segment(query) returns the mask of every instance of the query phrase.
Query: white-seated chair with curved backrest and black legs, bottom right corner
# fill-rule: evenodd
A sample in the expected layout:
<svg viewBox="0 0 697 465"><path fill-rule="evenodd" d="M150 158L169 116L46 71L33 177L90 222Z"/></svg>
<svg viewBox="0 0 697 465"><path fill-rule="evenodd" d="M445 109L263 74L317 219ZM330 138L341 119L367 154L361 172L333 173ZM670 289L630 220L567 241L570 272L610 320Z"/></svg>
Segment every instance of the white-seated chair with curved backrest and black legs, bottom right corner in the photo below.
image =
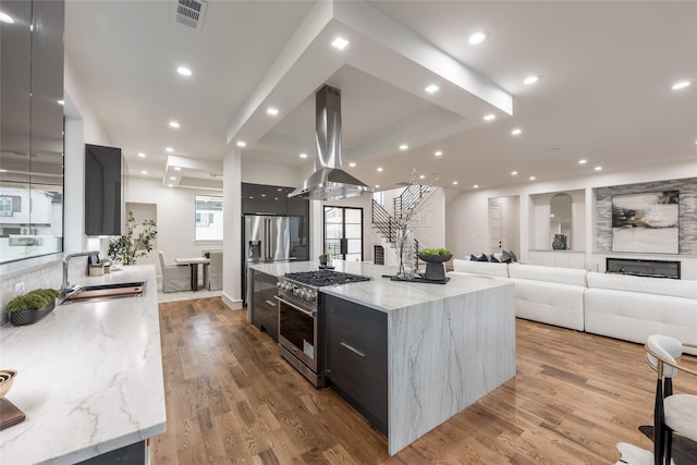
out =
<svg viewBox="0 0 697 465"><path fill-rule="evenodd" d="M684 347L697 344L683 343L662 334L649 335L646 343L646 363L657 374L656 402L653 406L653 463L671 463L673 432L697 441L697 395L674 394L673 378L678 371L697 376L697 370L678 365Z"/></svg>

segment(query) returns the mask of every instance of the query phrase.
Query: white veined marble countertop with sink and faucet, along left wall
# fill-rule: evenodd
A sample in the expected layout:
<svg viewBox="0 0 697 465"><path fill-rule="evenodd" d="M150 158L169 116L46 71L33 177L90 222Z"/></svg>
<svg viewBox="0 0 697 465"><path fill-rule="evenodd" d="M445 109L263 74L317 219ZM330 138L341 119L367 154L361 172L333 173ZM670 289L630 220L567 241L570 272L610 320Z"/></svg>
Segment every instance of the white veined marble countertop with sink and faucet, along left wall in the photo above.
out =
<svg viewBox="0 0 697 465"><path fill-rule="evenodd" d="M17 370L7 399L26 415L0 431L3 464L72 464L166 430L155 267L73 281L147 284L142 296L71 303L0 329L0 367Z"/></svg>

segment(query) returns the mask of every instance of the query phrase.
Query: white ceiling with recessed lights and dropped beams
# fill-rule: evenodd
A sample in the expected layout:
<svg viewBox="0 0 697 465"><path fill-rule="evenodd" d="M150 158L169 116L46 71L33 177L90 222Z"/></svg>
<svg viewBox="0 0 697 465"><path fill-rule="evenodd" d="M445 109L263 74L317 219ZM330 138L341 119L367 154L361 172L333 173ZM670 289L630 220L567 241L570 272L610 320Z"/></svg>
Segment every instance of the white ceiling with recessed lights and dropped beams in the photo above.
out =
<svg viewBox="0 0 697 465"><path fill-rule="evenodd" d="M132 175L170 182L166 147L221 166L240 139L245 159L311 163L323 84L342 90L344 169L381 189L414 170L470 189L697 160L695 1L208 1L200 32L173 10L66 2L66 56Z"/></svg>

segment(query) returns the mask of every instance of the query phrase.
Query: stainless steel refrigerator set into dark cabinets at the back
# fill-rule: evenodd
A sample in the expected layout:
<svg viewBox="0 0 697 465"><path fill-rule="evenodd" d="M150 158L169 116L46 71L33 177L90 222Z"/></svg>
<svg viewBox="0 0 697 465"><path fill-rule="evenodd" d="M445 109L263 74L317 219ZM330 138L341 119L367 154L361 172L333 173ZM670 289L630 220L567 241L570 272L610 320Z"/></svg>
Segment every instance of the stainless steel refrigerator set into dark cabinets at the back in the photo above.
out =
<svg viewBox="0 0 697 465"><path fill-rule="evenodd" d="M308 237L303 217L244 216L242 296L246 302L249 264L307 260Z"/></svg>

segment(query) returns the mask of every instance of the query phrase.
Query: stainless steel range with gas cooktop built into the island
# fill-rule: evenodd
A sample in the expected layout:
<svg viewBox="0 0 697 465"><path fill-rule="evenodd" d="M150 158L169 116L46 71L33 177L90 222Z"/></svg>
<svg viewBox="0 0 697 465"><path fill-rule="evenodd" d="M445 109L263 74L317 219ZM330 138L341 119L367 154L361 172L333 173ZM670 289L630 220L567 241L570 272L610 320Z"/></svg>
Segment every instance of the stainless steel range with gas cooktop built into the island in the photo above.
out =
<svg viewBox="0 0 697 465"><path fill-rule="evenodd" d="M319 287L369 281L370 278L331 270L279 277L279 350L316 388L323 384L322 308Z"/></svg>

